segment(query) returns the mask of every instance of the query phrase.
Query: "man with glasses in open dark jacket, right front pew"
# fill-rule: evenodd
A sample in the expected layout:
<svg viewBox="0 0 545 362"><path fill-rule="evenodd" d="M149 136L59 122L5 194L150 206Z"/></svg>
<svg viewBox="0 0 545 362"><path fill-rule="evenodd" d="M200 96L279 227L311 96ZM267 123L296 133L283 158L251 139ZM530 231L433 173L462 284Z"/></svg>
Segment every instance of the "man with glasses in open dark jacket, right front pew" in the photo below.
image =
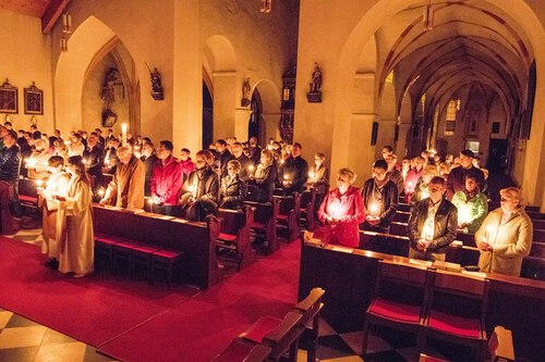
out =
<svg viewBox="0 0 545 362"><path fill-rule="evenodd" d="M445 261L448 246L456 238L458 210L445 195L445 179L436 176L428 185L429 197L411 209L409 258Z"/></svg>

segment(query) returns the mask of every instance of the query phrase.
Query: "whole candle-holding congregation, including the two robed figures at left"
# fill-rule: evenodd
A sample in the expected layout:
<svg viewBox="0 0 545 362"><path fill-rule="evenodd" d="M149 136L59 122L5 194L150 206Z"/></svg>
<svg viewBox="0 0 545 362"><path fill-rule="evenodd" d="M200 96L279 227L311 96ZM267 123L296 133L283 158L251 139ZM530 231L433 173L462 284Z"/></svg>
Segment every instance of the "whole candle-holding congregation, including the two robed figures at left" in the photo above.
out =
<svg viewBox="0 0 545 362"><path fill-rule="evenodd" d="M242 210L245 201L269 202L283 196L315 192L315 215L324 241L359 248L360 230L389 234L402 200L411 205L407 235L410 258L444 261L457 233L475 235L483 272L519 275L532 242L532 222L521 191L500 191L500 208L488 212L487 171L472 151L444 157L433 150L401 163L385 146L373 176L356 187L348 167L337 173L329 189L326 155L316 153L308 165L302 145L269 139L263 148L256 137L240 142L218 139L192 158L187 148L175 151L170 140L154 143L147 137L114 135L97 128L60 130L50 137L0 126L0 197L2 234L14 233L22 216L20 177L35 179L43 205L43 252L48 266L81 277L93 272L92 204L129 210L147 207L154 213L206 221L218 209ZM384 239L371 249L391 252Z"/></svg>

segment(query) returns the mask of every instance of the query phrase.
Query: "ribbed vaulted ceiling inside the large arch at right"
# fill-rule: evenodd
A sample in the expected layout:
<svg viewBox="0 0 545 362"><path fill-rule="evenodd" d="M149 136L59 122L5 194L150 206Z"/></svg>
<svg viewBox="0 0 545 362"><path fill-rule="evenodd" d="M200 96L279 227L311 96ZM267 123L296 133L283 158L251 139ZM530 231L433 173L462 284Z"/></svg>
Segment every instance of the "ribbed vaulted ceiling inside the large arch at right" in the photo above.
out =
<svg viewBox="0 0 545 362"><path fill-rule="evenodd" d="M429 4L433 28L425 30ZM377 39L389 49L382 54L382 84L395 70L400 102L405 91L416 101L425 93L434 109L471 84L498 95L508 114L525 102L533 51L509 14L488 1L416 2L384 24Z"/></svg>

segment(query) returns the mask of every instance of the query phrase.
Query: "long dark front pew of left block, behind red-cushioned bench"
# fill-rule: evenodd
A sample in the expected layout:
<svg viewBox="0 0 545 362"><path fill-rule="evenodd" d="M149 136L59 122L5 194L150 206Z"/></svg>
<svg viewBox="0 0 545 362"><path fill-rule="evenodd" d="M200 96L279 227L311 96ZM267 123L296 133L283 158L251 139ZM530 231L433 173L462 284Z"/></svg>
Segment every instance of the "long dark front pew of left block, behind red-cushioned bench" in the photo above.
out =
<svg viewBox="0 0 545 362"><path fill-rule="evenodd" d="M186 267L180 275L187 284L206 289L219 282L216 240L219 221L187 222L147 212L133 213L114 207L93 205L96 233L123 237L143 245L183 251Z"/></svg>

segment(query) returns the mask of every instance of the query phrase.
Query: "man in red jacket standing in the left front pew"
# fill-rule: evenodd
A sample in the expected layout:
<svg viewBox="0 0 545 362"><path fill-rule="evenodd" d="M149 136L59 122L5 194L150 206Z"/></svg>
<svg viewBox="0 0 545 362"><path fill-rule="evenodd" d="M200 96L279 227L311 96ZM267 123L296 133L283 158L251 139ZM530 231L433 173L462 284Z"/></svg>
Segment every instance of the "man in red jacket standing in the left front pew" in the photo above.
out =
<svg viewBox="0 0 545 362"><path fill-rule="evenodd" d="M152 183L153 211L170 216L179 215L179 202L182 188L182 167L172 157L171 141L162 140L156 149L157 163Z"/></svg>

